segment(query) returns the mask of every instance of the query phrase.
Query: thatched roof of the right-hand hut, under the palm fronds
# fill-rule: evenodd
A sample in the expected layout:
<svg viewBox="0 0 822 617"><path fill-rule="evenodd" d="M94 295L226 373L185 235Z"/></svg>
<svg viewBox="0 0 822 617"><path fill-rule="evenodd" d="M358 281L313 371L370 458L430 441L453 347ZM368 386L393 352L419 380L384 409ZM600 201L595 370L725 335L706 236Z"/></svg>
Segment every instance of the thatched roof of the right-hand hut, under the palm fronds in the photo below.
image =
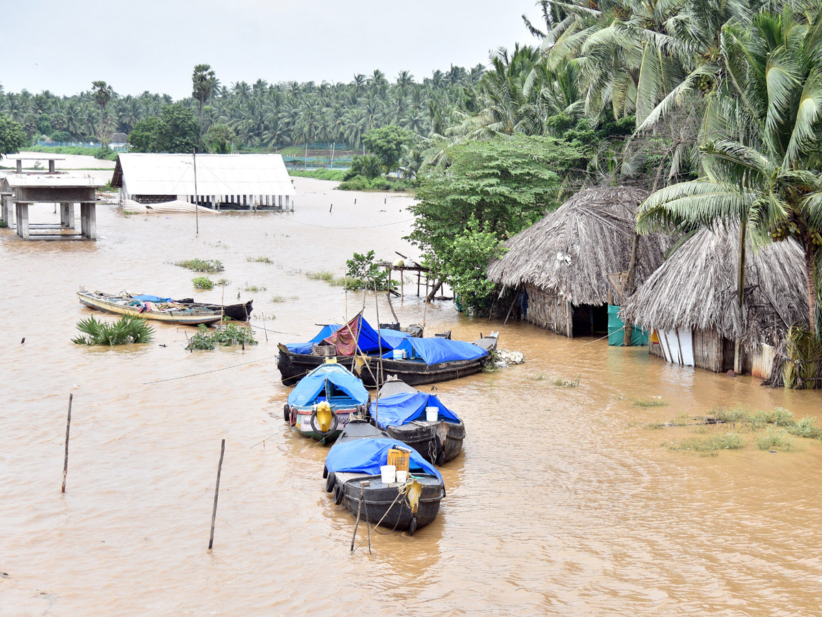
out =
<svg viewBox="0 0 822 617"><path fill-rule="evenodd" d="M808 321L802 250L793 239L754 250L749 235L745 254L744 311L737 297L739 225L728 225L686 240L620 315L645 328L715 328L734 341L774 344L787 327Z"/></svg>

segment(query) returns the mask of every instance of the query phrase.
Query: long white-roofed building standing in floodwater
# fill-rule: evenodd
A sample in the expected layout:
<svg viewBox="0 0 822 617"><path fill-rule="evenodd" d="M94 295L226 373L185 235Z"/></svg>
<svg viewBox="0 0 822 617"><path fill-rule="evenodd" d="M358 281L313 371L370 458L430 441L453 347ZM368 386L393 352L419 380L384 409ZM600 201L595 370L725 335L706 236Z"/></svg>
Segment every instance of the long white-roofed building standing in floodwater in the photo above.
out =
<svg viewBox="0 0 822 617"><path fill-rule="evenodd" d="M196 185L194 165L196 162ZM120 201L163 203L180 199L219 210L293 210L296 194L281 155L136 154L118 156L111 180Z"/></svg>

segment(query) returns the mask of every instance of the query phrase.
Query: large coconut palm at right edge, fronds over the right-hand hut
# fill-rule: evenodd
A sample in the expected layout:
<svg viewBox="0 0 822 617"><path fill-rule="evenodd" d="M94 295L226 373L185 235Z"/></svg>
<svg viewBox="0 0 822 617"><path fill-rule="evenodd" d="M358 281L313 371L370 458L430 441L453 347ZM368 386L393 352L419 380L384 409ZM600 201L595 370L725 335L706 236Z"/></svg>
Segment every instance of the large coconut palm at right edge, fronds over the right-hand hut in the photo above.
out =
<svg viewBox="0 0 822 617"><path fill-rule="evenodd" d="M750 27L723 28L718 95L704 119L704 178L663 188L640 208L640 229L741 225L744 247L792 236L805 255L809 323L820 294L822 245L822 9L760 12Z"/></svg>

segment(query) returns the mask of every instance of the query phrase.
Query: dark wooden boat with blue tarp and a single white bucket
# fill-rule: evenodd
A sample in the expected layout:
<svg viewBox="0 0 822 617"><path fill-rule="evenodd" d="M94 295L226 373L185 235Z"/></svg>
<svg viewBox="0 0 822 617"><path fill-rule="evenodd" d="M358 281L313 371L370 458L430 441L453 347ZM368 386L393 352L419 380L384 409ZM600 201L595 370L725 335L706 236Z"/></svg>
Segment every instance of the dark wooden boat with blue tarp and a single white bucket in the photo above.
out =
<svg viewBox="0 0 822 617"><path fill-rule="evenodd" d="M429 407L437 410L436 420L427 420ZM462 452L465 424L433 394L420 392L399 379L389 379L381 388L371 417L383 429L402 443L437 465Z"/></svg>

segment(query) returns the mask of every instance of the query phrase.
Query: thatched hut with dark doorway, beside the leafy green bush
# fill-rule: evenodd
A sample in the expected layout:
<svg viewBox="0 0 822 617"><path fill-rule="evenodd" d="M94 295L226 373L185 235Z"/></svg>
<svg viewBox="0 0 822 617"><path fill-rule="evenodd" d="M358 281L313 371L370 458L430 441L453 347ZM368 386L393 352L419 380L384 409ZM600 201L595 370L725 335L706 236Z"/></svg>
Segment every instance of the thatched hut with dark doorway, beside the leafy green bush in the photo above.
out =
<svg viewBox="0 0 822 617"><path fill-rule="evenodd" d="M608 275L628 271L636 212L647 196L632 187L576 193L507 240L508 251L488 266L488 278L524 291L524 318L540 327L565 336L607 332L607 305L615 290ZM664 249L657 235L640 238L637 285L662 264Z"/></svg>

